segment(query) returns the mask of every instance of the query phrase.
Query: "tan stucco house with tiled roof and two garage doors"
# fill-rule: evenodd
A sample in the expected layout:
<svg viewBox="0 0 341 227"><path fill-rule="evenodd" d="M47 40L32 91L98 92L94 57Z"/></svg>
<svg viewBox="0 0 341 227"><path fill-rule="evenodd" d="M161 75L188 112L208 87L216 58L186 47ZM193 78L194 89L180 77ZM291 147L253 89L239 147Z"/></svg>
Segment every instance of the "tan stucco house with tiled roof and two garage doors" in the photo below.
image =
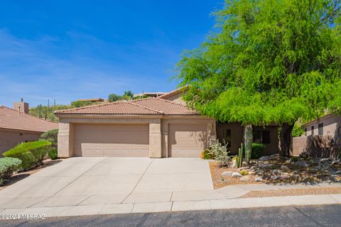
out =
<svg viewBox="0 0 341 227"><path fill-rule="evenodd" d="M242 126L216 124L215 118L181 104L180 93L55 111L58 156L199 157L217 137L229 141L237 153ZM278 152L274 132L274 126L255 128L255 139L266 143L266 153Z"/></svg>

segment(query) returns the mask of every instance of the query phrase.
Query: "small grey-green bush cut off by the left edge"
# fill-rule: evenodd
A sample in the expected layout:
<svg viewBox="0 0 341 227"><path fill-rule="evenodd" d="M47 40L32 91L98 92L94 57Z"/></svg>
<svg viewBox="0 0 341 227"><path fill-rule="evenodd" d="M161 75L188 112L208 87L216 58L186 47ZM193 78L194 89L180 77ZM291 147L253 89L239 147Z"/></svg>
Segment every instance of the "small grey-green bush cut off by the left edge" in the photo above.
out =
<svg viewBox="0 0 341 227"><path fill-rule="evenodd" d="M11 177L14 171L17 171L21 166L21 160L15 157L0 158L0 185L3 185L6 180Z"/></svg>

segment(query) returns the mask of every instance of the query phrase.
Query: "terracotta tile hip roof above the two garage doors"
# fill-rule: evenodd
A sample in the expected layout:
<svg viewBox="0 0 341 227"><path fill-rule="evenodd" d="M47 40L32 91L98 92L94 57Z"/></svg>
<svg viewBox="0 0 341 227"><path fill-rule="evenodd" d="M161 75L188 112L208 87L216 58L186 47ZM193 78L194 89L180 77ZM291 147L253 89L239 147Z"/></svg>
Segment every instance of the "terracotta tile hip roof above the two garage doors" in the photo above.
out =
<svg viewBox="0 0 341 227"><path fill-rule="evenodd" d="M158 98L116 101L109 104L84 106L75 109L55 111L55 114L129 114L129 115L188 115L199 114L181 104Z"/></svg>

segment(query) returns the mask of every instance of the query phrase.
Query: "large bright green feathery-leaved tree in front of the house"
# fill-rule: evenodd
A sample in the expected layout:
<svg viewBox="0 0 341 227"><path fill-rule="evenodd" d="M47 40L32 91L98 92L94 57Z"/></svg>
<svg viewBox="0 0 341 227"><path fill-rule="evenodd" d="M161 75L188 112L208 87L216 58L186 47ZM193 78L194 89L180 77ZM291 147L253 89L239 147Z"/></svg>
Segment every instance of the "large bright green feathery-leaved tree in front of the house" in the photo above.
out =
<svg viewBox="0 0 341 227"><path fill-rule="evenodd" d="M281 126L341 108L340 0L229 0L217 26L178 63L189 106L223 122Z"/></svg>

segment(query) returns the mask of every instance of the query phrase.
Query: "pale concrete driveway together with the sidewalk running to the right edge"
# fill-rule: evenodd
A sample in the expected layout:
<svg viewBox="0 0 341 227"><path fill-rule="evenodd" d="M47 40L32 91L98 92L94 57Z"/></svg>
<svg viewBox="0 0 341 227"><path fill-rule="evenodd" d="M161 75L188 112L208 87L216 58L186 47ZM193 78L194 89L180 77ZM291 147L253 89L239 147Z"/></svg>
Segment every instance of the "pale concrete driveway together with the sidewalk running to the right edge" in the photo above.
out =
<svg viewBox="0 0 341 227"><path fill-rule="evenodd" d="M0 214L80 216L341 203L341 194L237 199L256 190L312 187L341 184L242 184L214 190L206 160L75 157L1 190Z"/></svg>

